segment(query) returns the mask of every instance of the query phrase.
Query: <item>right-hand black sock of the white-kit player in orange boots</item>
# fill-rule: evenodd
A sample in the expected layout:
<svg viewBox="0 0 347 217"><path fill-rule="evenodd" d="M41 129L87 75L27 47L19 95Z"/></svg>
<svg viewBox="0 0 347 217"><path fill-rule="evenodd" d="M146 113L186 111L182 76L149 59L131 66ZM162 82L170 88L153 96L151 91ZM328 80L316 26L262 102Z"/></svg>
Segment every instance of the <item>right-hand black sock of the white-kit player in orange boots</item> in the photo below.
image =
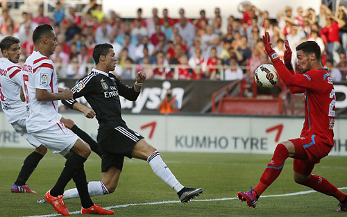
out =
<svg viewBox="0 0 347 217"><path fill-rule="evenodd" d="M87 176L85 175L84 168L78 171L74 175L73 179L76 183L76 188L78 191L78 195L80 196L82 207L85 209L92 207L92 205L94 205L94 202L92 202L92 199L90 198L88 193Z"/></svg>

